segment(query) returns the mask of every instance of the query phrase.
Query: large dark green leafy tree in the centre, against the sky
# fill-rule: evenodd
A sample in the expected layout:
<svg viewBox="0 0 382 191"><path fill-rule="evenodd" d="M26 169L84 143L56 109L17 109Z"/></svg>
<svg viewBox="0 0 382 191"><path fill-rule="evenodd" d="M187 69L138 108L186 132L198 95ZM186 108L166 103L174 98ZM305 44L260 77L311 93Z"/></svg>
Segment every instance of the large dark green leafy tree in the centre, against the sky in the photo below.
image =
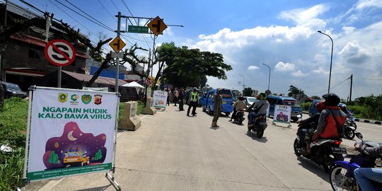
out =
<svg viewBox="0 0 382 191"><path fill-rule="evenodd" d="M174 42L158 47L158 57L166 62L162 81L175 87L203 87L207 83L207 76L227 79L225 71L232 69L230 65L224 64L223 55L219 53L202 52L186 46L175 47Z"/></svg>

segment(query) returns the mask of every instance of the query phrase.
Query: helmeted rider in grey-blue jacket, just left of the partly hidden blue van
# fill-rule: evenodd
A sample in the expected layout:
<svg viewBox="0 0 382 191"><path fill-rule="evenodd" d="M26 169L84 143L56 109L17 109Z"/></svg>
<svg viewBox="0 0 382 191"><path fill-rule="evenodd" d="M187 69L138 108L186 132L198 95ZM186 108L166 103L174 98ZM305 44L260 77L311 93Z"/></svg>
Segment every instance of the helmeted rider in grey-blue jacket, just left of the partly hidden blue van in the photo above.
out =
<svg viewBox="0 0 382 191"><path fill-rule="evenodd" d="M265 93L260 93L259 96L257 96L256 102L250 105L248 110L253 112L250 112L248 115L248 125L254 125L256 117L267 114L267 108L270 106L270 103L265 100L266 98L267 95Z"/></svg>

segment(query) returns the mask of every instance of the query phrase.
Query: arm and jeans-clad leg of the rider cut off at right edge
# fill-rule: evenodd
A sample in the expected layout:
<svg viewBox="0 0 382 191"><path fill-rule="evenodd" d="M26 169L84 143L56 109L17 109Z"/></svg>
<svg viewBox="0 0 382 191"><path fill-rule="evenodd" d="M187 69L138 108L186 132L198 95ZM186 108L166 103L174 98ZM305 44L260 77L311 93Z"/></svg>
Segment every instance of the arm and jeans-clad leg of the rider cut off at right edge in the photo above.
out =
<svg viewBox="0 0 382 191"><path fill-rule="evenodd" d="M366 156L371 156L374 158L382 157L382 146L367 147L366 144L363 146L356 144L355 147L361 147L359 151L361 151L361 153L365 154ZM357 183L362 190L374 190L370 180L382 183L382 168L357 168L354 170L354 177L356 178Z"/></svg>

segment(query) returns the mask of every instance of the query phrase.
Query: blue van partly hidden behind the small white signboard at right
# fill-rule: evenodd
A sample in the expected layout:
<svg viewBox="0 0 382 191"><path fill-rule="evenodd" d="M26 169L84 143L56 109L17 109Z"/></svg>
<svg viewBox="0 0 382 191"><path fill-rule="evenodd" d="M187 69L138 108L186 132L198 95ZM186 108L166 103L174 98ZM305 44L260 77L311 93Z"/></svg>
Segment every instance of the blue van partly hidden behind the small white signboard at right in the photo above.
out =
<svg viewBox="0 0 382 191"><path fill-rule="evenodd" d="M295 98L283 97L283 96L268 96L268 103L270 103L269 115L274 115L275 105L288 105L291 106L291 120L296 122L302 117L302 108L298 100Z"/></svg>

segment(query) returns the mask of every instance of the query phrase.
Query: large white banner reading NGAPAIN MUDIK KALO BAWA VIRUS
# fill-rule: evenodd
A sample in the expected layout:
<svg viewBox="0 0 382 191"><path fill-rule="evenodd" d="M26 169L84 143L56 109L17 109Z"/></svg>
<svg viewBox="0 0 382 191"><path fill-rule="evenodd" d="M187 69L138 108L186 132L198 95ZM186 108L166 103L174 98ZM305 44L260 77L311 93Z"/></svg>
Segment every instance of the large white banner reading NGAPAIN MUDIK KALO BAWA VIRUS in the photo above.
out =
<svg viewBox="0 0 382 191"><path fill-rule="evenodd" d="M28 179L110 170L116 107L115 93L33 91Z"/></svg>

